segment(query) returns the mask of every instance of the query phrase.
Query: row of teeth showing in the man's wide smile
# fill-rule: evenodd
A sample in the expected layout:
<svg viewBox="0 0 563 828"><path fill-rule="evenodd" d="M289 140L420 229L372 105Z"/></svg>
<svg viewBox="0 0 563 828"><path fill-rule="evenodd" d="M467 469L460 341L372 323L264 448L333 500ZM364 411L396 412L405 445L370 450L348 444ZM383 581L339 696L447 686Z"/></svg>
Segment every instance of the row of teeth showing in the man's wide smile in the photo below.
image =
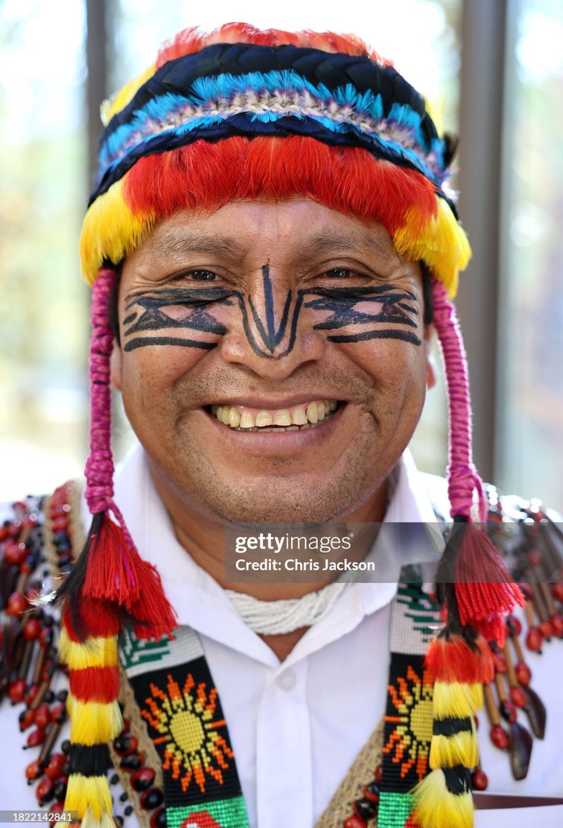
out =
<svg viewBox="0 0 563 828"><path fill-rule="evenodd" d="M307 407L296 406L291 411L287 408L280 408L277 412L263 410L257 413L256 419L252 412L241 414L236 407L229 405L212 405L211 413L225 426L239 431L302 431L323 422L337 407L336 400L321 400L310 402Z"/></svg>

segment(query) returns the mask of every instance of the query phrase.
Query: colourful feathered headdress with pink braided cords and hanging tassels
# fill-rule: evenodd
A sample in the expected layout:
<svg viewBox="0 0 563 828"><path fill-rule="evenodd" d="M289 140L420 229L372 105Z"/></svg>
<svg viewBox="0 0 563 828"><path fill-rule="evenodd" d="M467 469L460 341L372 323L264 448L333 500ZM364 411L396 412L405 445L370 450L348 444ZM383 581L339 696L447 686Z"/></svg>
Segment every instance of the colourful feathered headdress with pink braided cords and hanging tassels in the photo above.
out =
<svg viewBox="0 0 563 828"><path fill-rule="evenodd" d="M89 825L109 820L100 768L105 744L121 726L120 624L132 619L138 635L154 638L174 626L156 570L137 555L113 502L108 297L114 268L176 210L305 195L383 224L397 253L424 262L431 273L450 397L455 531L440 565L447 620L428 655L435 676L433 770L416 792L414 818L421 828L470 826L472 717L479 683L491 669L479 632L500 636L501 614L520 596L474 525L475 516L484 520L486 503L471 458L467 368L449 300L470 257L447 183L455 139L438 135L421 95L357 38L240 23L210 34L180 32L102 114L99 178L81 238L84 277L93 286L86 498L94 517L84 554L61 590L73 728L66 808Z"/></svg>

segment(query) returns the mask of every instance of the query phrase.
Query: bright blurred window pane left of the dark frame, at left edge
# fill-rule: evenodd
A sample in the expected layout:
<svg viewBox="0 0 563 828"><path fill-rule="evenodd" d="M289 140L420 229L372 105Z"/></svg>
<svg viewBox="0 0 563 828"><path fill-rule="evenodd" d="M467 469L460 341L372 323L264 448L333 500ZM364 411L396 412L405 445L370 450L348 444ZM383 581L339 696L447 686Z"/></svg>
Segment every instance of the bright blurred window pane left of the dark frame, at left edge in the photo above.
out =
<svg viewBox="0 0 563 828"><path fill-rule="evenodd" d="M84 462L84 10L4 0L0 20L0 498L13 498Z"/></svg>

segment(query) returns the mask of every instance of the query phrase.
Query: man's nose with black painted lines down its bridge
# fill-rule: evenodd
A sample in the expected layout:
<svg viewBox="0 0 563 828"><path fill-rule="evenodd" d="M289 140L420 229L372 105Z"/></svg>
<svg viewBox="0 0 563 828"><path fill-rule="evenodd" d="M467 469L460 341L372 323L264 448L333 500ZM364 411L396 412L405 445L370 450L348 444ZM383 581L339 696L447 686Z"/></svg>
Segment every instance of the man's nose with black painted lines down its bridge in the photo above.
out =
<svg viewBox="0 0 563 828"><path fill-rule="evenodd" d="M238 296L238 314L221 343L225 362L245 365L259 376L281 380L325 354L326 340L314 330L299 291L262 267L253 289Z"/></svg>

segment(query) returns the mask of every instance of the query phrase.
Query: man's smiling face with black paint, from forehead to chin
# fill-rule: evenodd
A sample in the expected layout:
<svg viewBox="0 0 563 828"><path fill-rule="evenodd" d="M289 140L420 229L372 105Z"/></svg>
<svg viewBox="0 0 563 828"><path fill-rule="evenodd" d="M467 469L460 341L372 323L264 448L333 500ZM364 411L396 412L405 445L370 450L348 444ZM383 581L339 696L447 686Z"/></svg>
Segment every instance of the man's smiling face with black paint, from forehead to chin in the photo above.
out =
<svg viewBox="0 0 563 828"><path fill-rule="evenodd" d="M420 267L381 225L307 199L180 212L118 301L113 383L185 508L320 522L381 491L430 371Z"/></svg>

